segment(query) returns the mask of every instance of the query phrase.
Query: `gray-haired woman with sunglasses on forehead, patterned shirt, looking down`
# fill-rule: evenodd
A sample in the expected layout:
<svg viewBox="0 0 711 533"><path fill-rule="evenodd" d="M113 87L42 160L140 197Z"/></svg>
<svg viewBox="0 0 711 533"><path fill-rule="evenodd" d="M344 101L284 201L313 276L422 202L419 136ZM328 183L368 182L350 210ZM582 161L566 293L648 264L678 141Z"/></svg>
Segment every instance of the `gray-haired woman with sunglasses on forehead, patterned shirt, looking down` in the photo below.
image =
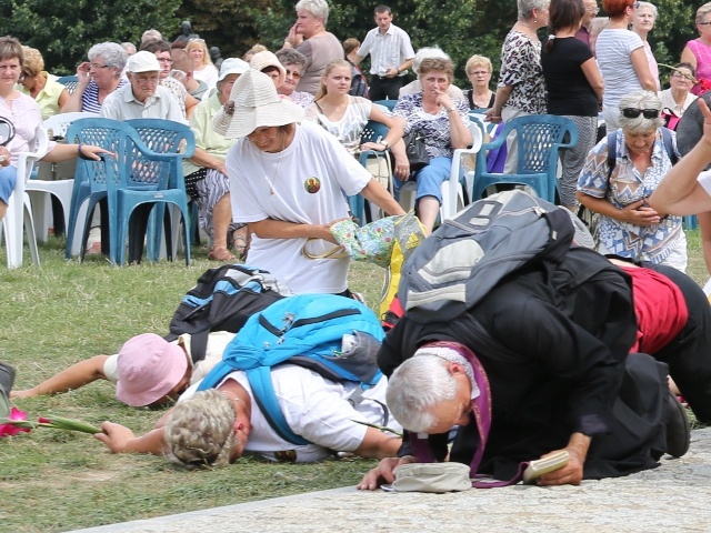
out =
<svg viewBox="0 0 711 533"><path fill-rule="evenodd" d="M650 91L620 100L620 129L590 151L578 181L578 200L600 213L599 252L683 272L687 238L681 217L660 213L648 203L672 159L680 158L675 133L661 128L661 100Z"/></svg>

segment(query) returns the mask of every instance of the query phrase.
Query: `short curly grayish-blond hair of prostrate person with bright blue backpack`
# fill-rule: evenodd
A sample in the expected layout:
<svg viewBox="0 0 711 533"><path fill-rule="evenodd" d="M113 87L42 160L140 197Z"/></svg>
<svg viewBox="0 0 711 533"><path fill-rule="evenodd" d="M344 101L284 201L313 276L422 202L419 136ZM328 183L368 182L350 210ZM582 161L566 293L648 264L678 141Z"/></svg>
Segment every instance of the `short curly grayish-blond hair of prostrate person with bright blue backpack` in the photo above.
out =
<svg viewBox="0 0 711 533"><path fill-rule="evenodd" d="M217 389L179 402L166 424L168 459L186 467L227 466L234 444L237 413Z"/></svg>

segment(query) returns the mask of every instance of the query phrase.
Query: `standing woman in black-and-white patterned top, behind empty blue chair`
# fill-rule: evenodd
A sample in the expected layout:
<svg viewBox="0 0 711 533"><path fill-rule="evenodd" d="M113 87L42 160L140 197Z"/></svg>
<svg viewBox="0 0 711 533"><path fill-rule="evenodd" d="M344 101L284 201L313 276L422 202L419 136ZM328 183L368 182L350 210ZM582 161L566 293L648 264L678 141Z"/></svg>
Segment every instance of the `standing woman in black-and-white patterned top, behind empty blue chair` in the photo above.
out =
<svg viewBox="0 0 711 533"><path fill-rule="evenodd" d="M518 0L519 20L501 47L501 74L493 107L484 114L491 122L545 112L545 82L541 69L541 41L537 31L548 26L550 0ZM504 174L518 167L515 135L507 139Z"/></svg>

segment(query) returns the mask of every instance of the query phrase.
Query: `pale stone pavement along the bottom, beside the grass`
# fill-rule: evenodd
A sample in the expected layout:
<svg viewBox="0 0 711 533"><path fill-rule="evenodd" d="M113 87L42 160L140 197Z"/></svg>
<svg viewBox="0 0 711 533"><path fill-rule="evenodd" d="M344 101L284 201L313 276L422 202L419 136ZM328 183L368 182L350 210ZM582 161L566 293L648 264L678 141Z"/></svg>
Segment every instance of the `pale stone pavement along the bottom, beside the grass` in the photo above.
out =
<svg viewBox="0 0 711 533"><path fill-rule="evenodd" d="M678 460L580 486L508 486L449 494L353 487L277 497L81 530L91 533L231 532L710 532L711 428Z"/></svg>

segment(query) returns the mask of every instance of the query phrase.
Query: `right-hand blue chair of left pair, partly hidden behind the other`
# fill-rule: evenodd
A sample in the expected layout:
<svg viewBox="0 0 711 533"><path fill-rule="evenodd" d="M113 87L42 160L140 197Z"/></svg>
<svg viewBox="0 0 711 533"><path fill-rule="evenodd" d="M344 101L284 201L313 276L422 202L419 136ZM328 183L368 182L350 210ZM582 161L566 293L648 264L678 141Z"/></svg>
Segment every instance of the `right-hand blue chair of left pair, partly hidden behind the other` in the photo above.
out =
<svg viewBox="0 0 711 533"><path fill-rule="evenodd" d="M127 120L127 124L133 128L140 135L143 143L154 153L171 154L176 159L170 165L168 187L170 189L182 190L186 193L186 182L182 171L182 160L190 158L196 150L194 133L189 125L180 122L161 119L132 119ZM160 231L162 222L166 223L166 250L168 258L172 260L173 253L178 248L178 234L180 232L180 217L164 218L164 205L158 205L153 213L151 222L152 238L149 239L148 257L151 261L158 261L160 254L160 243L163 232ZM189 213L192 211L189 210ZM171 220L174 223L171 223ZM188 217L184 224L194 234L197 232L198 218ZM173 239L174 237L174 239Z"/></svg>

